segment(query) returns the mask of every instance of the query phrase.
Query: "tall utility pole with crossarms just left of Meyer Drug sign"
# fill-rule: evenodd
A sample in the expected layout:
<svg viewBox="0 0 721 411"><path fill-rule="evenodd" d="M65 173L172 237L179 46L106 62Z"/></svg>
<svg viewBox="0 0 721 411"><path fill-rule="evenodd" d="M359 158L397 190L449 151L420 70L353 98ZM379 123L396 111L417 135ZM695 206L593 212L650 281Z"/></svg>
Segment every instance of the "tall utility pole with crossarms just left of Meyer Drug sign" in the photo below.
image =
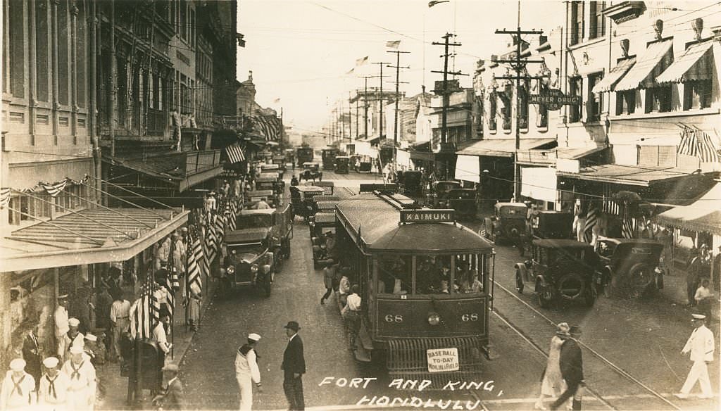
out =
<svg viewBox="0 0 721 411"><path fill-rule="evenodd" d="M528 60L521 58L521 35L542 35L541 30L521 30L521 1L518 1L518 26L516 30L496 30L495 34L510 34L515 36L516 56L508 60L498 60L496 63L509 63L511 68L516 71L516 76L501 76L497 79L516 80L516 150L513 153L513 198L516 201L521 200L521 165L518 164L518 151L521 149L521 79L531 79L530 76L522 76L528 63L543 63L542 60ZM539 79L540 77L532 77Z"/></svg>

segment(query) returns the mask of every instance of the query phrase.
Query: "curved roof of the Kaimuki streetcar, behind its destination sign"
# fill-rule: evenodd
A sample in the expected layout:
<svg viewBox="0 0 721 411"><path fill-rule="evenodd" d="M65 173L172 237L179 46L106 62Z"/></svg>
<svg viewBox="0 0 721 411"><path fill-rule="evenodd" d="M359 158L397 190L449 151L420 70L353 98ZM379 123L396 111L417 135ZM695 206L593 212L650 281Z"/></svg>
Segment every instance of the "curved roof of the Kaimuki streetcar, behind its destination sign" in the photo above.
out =
<svg viewBox="0 0 721 411"><path fill-rule="evenodd" d="M373 193L361 193L340 201L337 213L354 237L360 227L361 239L374 251L490 252L493 249L492 244L460 224L399 225L399 211Z"/></svg>

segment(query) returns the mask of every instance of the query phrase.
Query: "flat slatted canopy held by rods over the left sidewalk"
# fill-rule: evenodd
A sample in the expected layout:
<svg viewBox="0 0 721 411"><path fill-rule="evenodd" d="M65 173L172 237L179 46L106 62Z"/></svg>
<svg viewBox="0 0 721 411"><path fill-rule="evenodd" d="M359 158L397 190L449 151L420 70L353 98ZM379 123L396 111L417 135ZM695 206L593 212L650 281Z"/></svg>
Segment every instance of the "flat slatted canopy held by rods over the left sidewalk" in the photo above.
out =
<svg viewBox="0 0 721 411"><path fill-rule="evenodd" d="M188 211L87 208L0 239L0 270L124 261L187 222Z"/></svg>

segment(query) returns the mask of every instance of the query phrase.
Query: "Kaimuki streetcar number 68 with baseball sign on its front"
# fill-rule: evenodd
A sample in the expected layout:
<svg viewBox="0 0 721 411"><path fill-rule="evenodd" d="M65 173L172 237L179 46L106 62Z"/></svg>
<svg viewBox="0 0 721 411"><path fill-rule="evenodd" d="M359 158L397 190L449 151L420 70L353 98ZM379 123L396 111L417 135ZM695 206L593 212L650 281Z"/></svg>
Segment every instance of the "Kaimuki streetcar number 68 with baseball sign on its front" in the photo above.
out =
<svg viewBox="0 0 721 411"><path fill-rule="evenodd" d="M379 361L393 378L479 377L489 353L495 272L492 244L404 195L361 185L336 205L341 266L361 289L358 361Z"/></svg>

